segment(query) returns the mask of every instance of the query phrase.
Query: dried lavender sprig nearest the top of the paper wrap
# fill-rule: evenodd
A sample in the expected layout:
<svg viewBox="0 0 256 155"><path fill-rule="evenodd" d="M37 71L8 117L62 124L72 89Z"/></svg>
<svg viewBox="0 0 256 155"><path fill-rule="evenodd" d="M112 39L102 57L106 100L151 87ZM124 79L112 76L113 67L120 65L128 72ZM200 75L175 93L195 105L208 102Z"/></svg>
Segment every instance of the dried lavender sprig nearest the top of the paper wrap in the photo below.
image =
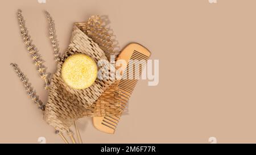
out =
<svg viewBox="0 0 256 155"><path fill-rule="evenodd" d="M55 29L55 23L54 20L52 19L51 15L49 12L45 11L46 13L46 18L48 19L49 23L49 39L51 40L51 45L53 48L54 56L55 56L55 61L59 62L60 61L60 54L59 54L59 43L57 41L56 37L56 29Z"/></svg>

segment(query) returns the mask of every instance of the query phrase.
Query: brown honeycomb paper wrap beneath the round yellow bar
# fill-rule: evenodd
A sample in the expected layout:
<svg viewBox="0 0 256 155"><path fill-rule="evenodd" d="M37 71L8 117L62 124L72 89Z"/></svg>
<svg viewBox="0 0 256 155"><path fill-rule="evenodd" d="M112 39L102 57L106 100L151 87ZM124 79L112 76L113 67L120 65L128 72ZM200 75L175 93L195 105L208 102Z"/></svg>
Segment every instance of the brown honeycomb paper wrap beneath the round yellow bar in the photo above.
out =
<svg viewBox="0 0 256 155"><path fill-rule="evenodd" d="M96 64L100 60L108 61L106 54L112 54L112 42L100 22L98 16L92 16L86 23L74 24L71 43L58 62L57 71L51 79L44 120L61 132L67 131L75 120L84 116L122 114L121 104L115 99L118 95L118 87L115 86L118 81L97 78L87 89L76 90L67 86L61 78L61 66L69 56L76 53L90 56ZM106 54L101 48L106 50Z"/></svg>

